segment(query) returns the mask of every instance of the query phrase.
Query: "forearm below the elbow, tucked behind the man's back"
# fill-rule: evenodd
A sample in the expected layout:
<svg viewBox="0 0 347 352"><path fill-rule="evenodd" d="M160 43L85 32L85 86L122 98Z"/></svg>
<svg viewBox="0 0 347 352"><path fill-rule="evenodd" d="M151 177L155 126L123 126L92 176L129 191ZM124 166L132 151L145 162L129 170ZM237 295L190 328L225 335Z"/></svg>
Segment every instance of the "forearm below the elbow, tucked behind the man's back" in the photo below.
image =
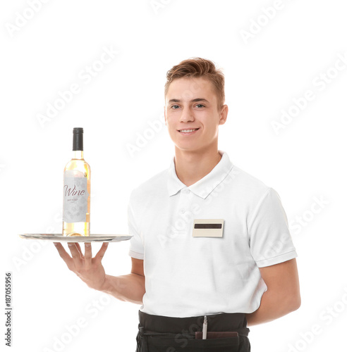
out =
<svg viewBox="0 0 347 352"><path fill-rule="evenodd" d="M288 294L280 296L276 291L267 290L262 295L260 307L253 313L246 314L248 326L271 322L300 307L300 297Z"/></svg>

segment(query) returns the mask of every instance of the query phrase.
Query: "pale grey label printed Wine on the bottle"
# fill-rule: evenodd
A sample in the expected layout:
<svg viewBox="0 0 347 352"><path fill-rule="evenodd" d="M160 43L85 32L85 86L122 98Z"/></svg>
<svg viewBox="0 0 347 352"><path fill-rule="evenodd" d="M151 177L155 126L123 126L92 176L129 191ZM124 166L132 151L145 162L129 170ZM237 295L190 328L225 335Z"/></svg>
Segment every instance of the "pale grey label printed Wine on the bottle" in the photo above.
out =
<svg viewBox="0 0 347 352"><path fill-rule="evenodd" d="M86 177L64 177L63 221L86 222L88 197Z"/></svg>

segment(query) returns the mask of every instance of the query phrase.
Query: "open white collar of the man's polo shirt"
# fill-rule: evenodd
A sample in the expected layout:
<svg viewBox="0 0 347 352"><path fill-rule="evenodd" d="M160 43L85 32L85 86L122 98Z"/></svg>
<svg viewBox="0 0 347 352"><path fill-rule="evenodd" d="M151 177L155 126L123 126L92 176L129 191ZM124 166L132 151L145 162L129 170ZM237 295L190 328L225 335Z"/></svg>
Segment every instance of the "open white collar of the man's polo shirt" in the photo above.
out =
<svg viewBox="0 0 347 352"><path fill-rule="evenodd" d="M191 184L189 187L177 177L174 156L171 158L171 163L169 167L169 177L167 182L167 187L169 191L169 196L173 196L178 191L183 188L188 188L197 196L205 199L223 180L229 175L229 172L233 168L228 154L225 151L219 151L221 154L221 160L214 166L214 168L201 180Z"/></svg>

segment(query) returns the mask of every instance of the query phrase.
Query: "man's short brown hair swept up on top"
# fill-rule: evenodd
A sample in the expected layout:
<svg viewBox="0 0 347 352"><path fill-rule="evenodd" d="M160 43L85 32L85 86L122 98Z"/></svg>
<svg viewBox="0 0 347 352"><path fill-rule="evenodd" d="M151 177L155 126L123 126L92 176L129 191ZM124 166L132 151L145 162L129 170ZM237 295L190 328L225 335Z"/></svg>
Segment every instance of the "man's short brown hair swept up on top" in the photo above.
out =
<svg viewBox="0 0 347 352"><path fill-rule="evenodd" d="M164 96L166 97L169 85L173 80L189 77L203 77L209 80L217 94L218 107L221 108L224 105L224 74L221 69L217 69L213 61L205 58L188 58L178 63L178 65L173 66L166 73Z"/></svg>

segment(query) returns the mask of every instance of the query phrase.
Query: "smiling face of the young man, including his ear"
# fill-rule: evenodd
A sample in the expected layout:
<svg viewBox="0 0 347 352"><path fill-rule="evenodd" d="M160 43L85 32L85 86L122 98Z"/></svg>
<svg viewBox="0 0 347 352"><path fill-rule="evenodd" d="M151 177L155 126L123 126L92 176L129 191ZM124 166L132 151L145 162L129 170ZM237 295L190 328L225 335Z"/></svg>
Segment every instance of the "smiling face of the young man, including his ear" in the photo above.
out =
<svg viewBox="0 0 347 352"><path fill-rule="evenodd" d="M217 150L218 127L226 122L228 106L218 108L217 94L209 80L203 77L178 78L169 85L164 114L176 148Z"/></svg>

